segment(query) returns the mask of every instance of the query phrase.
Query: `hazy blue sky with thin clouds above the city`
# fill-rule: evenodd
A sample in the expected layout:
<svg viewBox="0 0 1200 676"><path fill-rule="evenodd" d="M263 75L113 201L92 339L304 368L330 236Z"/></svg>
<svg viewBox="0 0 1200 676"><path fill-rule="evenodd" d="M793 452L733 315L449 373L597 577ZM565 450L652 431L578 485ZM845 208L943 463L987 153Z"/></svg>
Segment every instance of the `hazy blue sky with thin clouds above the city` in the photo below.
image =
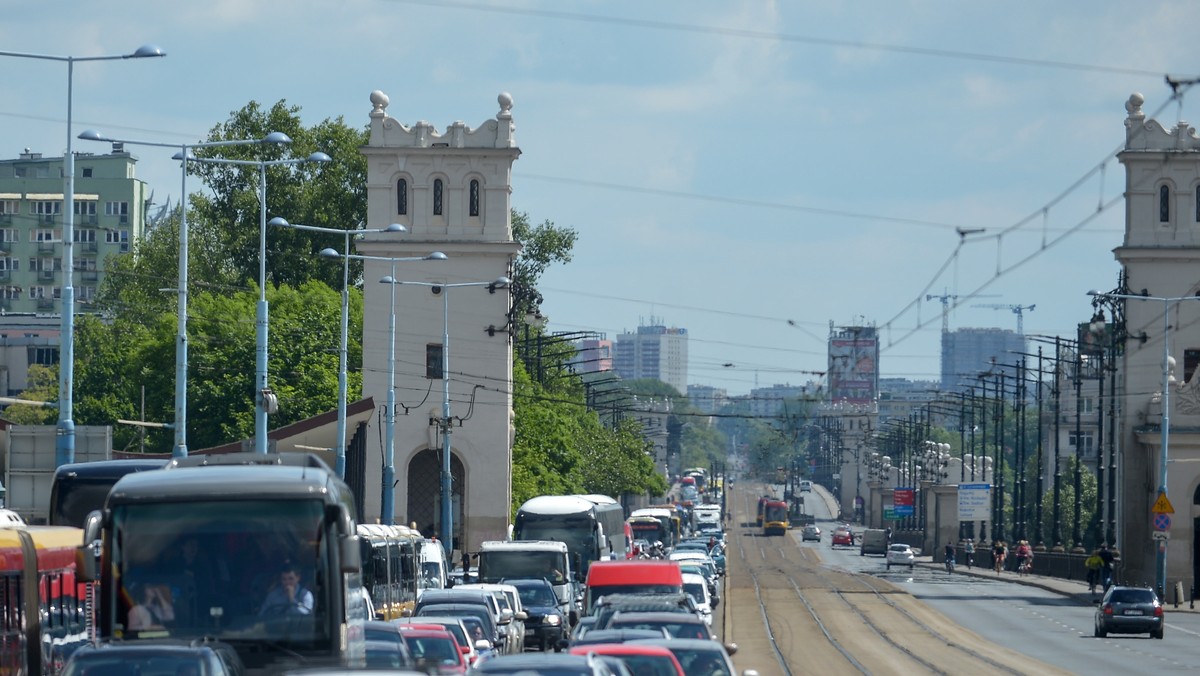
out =
<svg viewBox="0 0 1200 676"><path fill-rule="evenodd" d="M1164 79L1200 76L1196 25L1192 0L60 0L7 4L0 50L161 47L77 62L73 128L164 143L251 101L362 127L373 90L476 127L509 92L512 207L578 233L547 330L684 328L689 383L740 395L818 377L832 325L913 379L943 311L1072 336L1117 283L1126 101L1200 118ZM66 64L0 65L0 157L61 156ZM133 152L178 201L172 151Z"/></svg>

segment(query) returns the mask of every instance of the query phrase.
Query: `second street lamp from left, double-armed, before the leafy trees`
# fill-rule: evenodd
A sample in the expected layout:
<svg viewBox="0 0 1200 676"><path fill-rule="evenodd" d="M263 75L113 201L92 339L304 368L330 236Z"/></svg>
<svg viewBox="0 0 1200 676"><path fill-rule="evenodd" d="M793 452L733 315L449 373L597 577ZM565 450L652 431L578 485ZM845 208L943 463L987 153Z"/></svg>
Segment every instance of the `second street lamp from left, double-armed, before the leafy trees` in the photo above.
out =
<svg viewBox="0 0 1200 676"><path fill-rule="evenodd" d="M263 138L208 140L202 143L160 143L154 140L133 140L110 138L96 130L86 130L79 134L84 140L103 140L128 145L148 145L151 148L178 148L179 152L172 160L180 160L182 178L180 179L179 208L179 303L175 333L175 447L173 457L187 457L187 161L194 160L196 148L227 148L232 145L280 145L292 143L288 134L278 131Z"/></svg>

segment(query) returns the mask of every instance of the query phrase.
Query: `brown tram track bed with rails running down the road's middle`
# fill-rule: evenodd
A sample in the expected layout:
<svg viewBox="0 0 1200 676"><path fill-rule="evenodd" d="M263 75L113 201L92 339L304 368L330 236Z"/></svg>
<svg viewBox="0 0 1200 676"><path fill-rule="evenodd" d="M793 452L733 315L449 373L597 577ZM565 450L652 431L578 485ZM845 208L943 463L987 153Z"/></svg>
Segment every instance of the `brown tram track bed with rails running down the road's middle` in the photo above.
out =
<svg viewBox="0 0 1200 676"><path fill-rule="evenodd" d="M762 536L752 519L763 486L738 487L730 501L737 525L730 545L737 556L728 558L737 561L740 570L734 574L744 580L734 584L752 588L752 616L766 636L755 666L761 674L1046 671L1046 665L1030 664L958 627L886 580L827 567L820 549L799 546L794 532ZM744 626L750 617L751 611L740 615L739 635L750 633ZM774 658L773 668L763 664L767 656Z"/></svg>

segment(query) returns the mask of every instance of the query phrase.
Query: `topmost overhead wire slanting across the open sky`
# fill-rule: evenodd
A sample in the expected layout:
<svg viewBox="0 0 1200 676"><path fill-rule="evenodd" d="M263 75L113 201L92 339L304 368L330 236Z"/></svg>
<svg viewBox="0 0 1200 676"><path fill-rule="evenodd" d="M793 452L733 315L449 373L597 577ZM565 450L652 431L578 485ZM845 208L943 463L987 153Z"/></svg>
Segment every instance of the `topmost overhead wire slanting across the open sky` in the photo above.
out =
<svg viewBox="0 0 1200 676"><path fill-rule="evenodd" d="M836 47L839 49L864 49L871 52L892 52L896 54L912 54L917 56L932 56L938 59L954 59L961 61L986 61L992 64L1007 64L1014 66L1032 66L1042 68L1056 68L1081 72L1097 72L1109 74L1138 76L1138 77L1163 77L1162 71L1150 71L1145 68L1129 68L1122 66L1097 66L1093 64L1078 64L1072 61L1055 61L1049 59L1030 59L1025 56L1004 56L1000 54L982 54L978 52L960 52L955 49L936 49L932 47L908 47L904 44L887 44L882 42L864 42L858 40L835 40L832 37L817 37L810 35L788 35L770 32L764 30L736 29L728 26L703 26L696 24L684 24L678 22L662 22L655 19L632 19L626 17L606 17L602 14L584 14L578 12L560 12L554 10L524 10L516 7L502 7L482 2L466 2L462 0L392 0L407 5L425 5L437 8L473 10L480 12L496 12L500 14L515 14L524 17L540 17L546 19L560 19L582 23L622 25L630 28L644 28L655 30L671 30L677 32L692 32L700 35L721 35L727 37L744 37L748 40L766 40L770 42L785 42L794 44L817 44L823 47Z"/></svg>

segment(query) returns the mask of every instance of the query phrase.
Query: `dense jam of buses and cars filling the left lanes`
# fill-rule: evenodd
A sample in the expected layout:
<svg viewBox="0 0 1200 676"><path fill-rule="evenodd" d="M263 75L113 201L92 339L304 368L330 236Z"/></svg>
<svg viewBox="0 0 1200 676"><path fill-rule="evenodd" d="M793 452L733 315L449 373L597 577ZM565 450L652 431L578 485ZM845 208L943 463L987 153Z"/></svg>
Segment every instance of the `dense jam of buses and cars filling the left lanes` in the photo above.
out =
<svg viewBox="0 0 1200 676"><path fill-rule="evenodd" d="M732 676L737 646L719 639L722 480L689 469L668 498L629 514L602 495L538 496L516 510L511 539L451 568L414 528L355 525L346 485L313 456L114 467L107 492L82 492L90 507L59 489L85 514L78 527L0 528L13 568L0 666Z"/></svg>

